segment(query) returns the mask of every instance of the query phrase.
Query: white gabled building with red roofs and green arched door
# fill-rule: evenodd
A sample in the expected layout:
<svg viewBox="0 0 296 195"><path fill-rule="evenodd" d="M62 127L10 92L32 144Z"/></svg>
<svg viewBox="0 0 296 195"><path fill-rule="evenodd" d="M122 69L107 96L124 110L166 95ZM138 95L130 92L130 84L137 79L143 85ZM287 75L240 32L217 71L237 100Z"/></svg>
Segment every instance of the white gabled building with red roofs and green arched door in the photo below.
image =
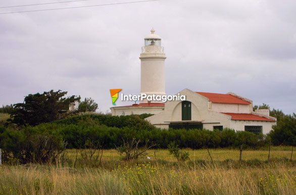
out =
<svg viewBox="0 0 296 195"><path fill-rule="evenodd" d="M276 119L269 116L269 110L253 112L251 100L234 93L220 94L194 92L184 89L186 101L171 101L165 110L146 118L160 128L231 128L252 132L268 133Z"/></svg>

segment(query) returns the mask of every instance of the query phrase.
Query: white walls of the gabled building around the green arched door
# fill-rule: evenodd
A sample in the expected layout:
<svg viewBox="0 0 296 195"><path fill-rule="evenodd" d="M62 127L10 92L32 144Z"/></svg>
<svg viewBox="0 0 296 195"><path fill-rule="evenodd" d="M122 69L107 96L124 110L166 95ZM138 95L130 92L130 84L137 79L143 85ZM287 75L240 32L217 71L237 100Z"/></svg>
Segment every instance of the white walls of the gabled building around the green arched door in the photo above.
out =
<svg viewBox="0 0 296 195"><path fill-rule="evenodd" d="M186 95L186 100L191 102L191 120L201 121L205 129L213 130L213 126L223 126L223 128L232 128L234 130L244 130L244 125L260 125L263 126L263 133L266 134L272 129L272 125L276 122L265 121L235 121L231 120L231 116L225 115L208 109L208 99L189 89L180 92ZM242 105L244 106L244 105ZM250 105L241 107L249 109ZM252 105L251 105L252 107ZM241 109L239 108L239 109ZM227 111L229 112L229 111ZM249 112L250 113L250 112ZM182 121L181 101L171 101L165 104L165 110L159 114L146 118L152 124L159 128L167 129L170 121Z"/></svg>

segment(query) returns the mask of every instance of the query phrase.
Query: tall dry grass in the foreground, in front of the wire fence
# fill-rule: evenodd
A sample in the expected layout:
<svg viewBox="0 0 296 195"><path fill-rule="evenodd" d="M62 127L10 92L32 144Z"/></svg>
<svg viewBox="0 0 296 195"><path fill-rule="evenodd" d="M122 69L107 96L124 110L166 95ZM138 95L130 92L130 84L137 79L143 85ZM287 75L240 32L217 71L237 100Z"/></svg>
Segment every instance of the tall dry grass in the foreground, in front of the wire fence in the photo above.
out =
<svg viewBox="0 0 296 195"><path fill-rule="evenodd" d="M121 163L113 169L2 166L0 194L296 194L296 168L276 163Z"/></svg>

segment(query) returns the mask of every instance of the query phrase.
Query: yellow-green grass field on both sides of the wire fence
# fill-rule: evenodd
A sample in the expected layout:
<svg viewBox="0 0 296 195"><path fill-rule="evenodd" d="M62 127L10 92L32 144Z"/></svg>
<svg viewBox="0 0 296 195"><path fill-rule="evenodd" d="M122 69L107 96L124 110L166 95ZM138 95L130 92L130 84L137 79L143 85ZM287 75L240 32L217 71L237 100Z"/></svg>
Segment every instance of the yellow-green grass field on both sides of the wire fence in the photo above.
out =
<svg viewBox="0 0 296 195"><path fill-rule="evenodd" d="M186 162L167 150L150 150L151 160L137 161L104 150L100 165L83 163L79 151L68 150L67 163L0 166L0 194L296 194L290 149L273 147L277 160L270 162L267 149L243 151L241 163L238 150L209 150L214 162L207 150L185 150Z"/></svg>

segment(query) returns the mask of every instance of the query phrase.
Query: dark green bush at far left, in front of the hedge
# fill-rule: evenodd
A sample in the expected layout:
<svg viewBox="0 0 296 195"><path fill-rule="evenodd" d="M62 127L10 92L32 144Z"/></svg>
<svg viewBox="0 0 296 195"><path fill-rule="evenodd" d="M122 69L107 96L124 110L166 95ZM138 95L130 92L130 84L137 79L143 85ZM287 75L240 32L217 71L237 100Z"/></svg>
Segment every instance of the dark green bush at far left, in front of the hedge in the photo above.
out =
<svg viewBox="0 0 296 195"><path fill-rule="evenodd" d="M65 149L62 136L42 127L24 129L1 129L0 148L4 162L51 163L55 162Z"/></svg>

